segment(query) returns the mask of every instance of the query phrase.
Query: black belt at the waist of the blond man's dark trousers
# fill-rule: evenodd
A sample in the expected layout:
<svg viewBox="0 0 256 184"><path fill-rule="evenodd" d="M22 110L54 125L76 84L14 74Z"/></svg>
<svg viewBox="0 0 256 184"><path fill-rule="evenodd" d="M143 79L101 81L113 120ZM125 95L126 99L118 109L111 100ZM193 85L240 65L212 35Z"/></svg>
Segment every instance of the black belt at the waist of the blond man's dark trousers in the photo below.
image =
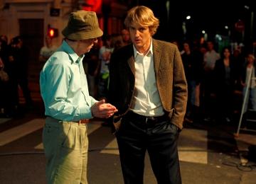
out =
<svg viewBox="0 0 256 184"><path fill-rule="evenodd" d="M166 114L157 116L157 117L150 117L150 116L144 116L144 115L139 115L137 113L133 113L132 110L128 111L125 117L128 120L132 120L133 122L144 123L145 125L156 125L159 122L164 122L169 120L169 117Z"/></svg>

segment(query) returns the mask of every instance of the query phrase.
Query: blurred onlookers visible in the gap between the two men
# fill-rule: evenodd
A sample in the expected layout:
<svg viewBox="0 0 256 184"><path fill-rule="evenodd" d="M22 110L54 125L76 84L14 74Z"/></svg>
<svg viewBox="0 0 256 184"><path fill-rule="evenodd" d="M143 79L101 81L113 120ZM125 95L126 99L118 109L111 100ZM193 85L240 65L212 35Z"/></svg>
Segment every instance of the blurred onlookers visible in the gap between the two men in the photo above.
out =
<svg viewBox="0 0 256 184"><path fill-rule="evenodd" d="M85 54L83 62L91 96L99 100L107 99L111 55L129 43L131 43L129 31L124 28L119 34L103 35L90 52Z"/></svg>

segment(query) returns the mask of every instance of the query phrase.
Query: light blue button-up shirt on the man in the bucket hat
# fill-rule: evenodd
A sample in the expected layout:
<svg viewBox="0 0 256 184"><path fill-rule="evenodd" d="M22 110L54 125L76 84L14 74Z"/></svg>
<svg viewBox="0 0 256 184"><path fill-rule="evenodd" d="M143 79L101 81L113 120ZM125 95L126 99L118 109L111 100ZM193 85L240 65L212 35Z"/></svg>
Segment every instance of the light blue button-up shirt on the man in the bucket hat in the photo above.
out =
<svg viewBox="0 0 256 184"><path fill-rule="evenodd" d="M63 121L92 118L91 107L97 100L89 96L83 57L63 41L44 65L40 88L45 115Z"/></svg>

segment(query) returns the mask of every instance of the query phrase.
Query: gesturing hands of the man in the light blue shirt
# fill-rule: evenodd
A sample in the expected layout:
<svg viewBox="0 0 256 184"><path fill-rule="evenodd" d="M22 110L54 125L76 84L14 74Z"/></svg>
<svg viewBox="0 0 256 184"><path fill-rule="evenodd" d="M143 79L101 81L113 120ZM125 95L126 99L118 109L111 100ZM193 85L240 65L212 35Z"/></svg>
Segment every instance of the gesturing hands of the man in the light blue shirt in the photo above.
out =
<svg viewBox="0 0 256 184"><path fill-rule="evenodd" d="M110 103L105 103L104 99L93 104L91 110L93 117L100 118L108 118L117 112L117 108L115 108L114 105L111 105Z"/></svg>

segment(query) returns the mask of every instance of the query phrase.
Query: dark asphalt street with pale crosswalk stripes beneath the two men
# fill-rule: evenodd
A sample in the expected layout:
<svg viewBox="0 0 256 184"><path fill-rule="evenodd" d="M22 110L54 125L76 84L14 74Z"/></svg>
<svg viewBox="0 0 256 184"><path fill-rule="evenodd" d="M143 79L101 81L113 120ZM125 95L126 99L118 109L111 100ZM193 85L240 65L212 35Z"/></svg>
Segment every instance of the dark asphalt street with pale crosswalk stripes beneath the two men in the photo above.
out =
<svg viewBox="0 0 256 184"><path fill-rule="evenodd" d="M39 98L38 98L39 99ZM89 124L88 180L91 184L122 184L122 172L114 135L100 120ZM15 118L0 118L0 183L43 184L45 157L41 142L42 104L24 110ZM247 147L256 144L252 132L234 137L237 123L186 123L178 151L184 184L256 183L256 163L247 161ZM245 166L242 166L244 163ZM144 183L154 184L149 158L145 160Z"/></svg>

